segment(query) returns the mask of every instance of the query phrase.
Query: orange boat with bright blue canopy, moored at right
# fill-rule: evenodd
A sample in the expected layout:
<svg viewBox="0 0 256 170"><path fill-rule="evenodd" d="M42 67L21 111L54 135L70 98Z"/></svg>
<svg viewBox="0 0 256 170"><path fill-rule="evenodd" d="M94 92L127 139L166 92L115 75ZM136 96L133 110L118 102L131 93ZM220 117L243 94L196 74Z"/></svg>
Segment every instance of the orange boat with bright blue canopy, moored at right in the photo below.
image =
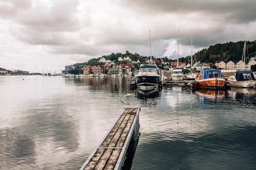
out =
<svg viewBox="0 0 256 170"><path fill-rule="evenodd" d="M203 88L224 88L225 79L219 69L205 69L201 71L195 81Z"/></svg>

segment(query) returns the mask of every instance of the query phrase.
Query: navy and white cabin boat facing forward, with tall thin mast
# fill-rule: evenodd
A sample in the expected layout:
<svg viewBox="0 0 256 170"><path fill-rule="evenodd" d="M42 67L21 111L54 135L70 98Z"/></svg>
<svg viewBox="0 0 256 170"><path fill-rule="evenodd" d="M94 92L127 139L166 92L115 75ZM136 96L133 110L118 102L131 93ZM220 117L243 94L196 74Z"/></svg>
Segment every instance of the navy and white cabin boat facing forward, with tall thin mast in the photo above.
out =
<svg viewBox="0 0 256 170"><path fill-rule="evenodd" d="M157 65L153 64L150 34L150 61L141 65L138 74L135 76L135 83L140 90L153 90L163 85L163 72Z"/></svg>

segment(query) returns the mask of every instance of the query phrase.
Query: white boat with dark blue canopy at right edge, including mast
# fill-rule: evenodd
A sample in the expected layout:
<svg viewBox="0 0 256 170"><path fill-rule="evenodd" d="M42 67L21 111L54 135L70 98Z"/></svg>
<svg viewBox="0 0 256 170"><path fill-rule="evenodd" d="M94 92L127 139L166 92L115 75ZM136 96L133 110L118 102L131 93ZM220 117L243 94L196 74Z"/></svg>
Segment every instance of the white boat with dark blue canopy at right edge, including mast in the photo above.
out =
<svg viewBox="0 0 256 170"><path fill-rule="evenodd" d="M245 70L245 56L246 56L246 40L244 41L244 48L242 54L242 60L244 60L244 70L236 71L233 76L230 76L227 80L231 86L251 88L256 87L256 80L253 73L249 70Z"/></svg>

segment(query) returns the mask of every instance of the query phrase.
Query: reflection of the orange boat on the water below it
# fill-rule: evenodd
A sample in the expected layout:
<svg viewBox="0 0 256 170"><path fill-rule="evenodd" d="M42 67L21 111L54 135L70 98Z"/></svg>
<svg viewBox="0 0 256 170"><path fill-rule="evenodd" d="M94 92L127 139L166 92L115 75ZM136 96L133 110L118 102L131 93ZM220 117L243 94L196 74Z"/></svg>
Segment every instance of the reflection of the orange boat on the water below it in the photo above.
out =
<svg viewBox="0 0 256 170"><path fill-rule="evenodd" d="M199 89L195 92L199 95L200 101L203 103L207 102L217 102L220 103L223 98L225 98L225 90L223 89Z"/></svg>

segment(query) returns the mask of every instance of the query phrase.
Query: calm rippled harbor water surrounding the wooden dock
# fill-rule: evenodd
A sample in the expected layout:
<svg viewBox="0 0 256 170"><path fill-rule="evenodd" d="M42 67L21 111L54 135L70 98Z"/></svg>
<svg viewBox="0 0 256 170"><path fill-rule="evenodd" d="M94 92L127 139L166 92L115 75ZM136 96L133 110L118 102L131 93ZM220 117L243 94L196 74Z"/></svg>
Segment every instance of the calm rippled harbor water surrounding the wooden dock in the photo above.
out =
<svg viewBox="0 0 256 170"><path fill-rule="evenodd" d="M125 78L0 76L0 169L79 169L124 107L140 107L132 169L255 169L256 90Z"/></svg>

